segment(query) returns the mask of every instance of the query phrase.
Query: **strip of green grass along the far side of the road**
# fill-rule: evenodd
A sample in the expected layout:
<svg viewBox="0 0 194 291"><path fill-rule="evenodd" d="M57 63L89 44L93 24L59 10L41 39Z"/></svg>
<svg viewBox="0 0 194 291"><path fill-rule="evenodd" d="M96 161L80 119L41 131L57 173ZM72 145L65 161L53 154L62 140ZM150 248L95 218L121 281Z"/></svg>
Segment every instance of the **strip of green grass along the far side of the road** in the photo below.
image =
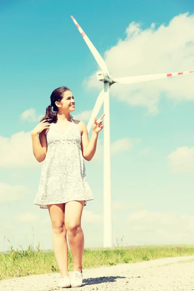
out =
<svg viewBox="0 0 194 291"><path fill-rule="evenodd" d="M135 263L150 259L194 255L194 245L146 245L115 248L84 249L83 269L113 266L120 263ZM71 253L68 254L69 271L73 270ZM52 251L36 250L29 245L27 250L14 250L0 254L0 279L27 275L59 272Z"/></svg>

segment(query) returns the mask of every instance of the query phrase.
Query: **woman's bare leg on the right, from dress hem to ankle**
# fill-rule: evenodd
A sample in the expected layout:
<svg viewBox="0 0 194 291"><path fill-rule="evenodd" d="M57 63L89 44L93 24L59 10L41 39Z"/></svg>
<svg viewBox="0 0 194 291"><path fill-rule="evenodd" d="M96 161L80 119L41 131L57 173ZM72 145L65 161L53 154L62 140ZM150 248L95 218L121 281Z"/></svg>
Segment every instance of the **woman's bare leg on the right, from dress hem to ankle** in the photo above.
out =
<svg viewBox="0 0 194 291"><path fill-rule="evenodd" d="M65 203L65 227L74 262L74 271L82 271L84 236L81 229L81 215L85 201Z"/></svg>

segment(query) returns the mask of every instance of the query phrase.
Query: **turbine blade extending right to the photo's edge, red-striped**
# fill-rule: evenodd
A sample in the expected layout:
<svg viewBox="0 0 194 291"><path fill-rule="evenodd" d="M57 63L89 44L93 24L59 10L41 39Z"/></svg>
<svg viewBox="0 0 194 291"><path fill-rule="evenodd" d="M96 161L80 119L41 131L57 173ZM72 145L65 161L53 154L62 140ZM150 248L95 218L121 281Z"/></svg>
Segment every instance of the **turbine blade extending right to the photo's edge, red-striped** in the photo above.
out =
<svg viewBox="0 0 194 291"><path fill-rule="evenodd" d="M115 78L113 79L113 81L120 84L134 84L134 83L158 80L162 78L174 77L174 76L178 76L182 74L189 74L189 73L194 73L194 71L156 74L156 75L131 76L131 77L124 77L124 78Z"/></svg>

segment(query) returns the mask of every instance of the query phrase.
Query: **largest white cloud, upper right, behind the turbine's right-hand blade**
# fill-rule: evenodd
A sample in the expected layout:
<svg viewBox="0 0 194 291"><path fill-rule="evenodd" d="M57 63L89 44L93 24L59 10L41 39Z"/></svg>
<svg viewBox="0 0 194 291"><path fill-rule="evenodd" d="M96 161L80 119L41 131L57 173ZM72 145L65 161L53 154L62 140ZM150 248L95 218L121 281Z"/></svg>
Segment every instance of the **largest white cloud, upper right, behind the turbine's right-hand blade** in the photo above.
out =
<svg viewBox="0 0 194 291"><path fill-rule="evenodd" d="M193 31L194 15L188 13L158 29L152 23L143 30L139 23L132 22L126 29L126 38L106 51L104 59L115 78L194 70ZM96 75L84 82L88 88L101 88ZM114 84L111 94L132 106L145 106L155 114L162 93L176 101L193 100L193 83L194 74L133 85Z"/></svg>

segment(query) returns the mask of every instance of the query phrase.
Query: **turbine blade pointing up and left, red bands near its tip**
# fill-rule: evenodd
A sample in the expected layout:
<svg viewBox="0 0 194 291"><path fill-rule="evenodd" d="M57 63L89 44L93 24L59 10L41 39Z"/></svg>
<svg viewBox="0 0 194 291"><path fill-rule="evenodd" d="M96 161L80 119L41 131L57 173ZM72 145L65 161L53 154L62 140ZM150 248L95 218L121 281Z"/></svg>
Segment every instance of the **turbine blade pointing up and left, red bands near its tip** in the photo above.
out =
<svg viewBox="0 0 194 291"><path fill-rule="evenodd" d="M91 53L93 54L95 60L97 61L97 64L99 65L100 69L109 74L107 65L105 64L103 58L101 57L101 55L99 54L99 52L97 51L97 49L95 48L95 46L92 44L92 42L89 40L89 38L87 37L87 35L85 34L85 32L81 29L80 25L78 24L78 22L75 20L75 18L73 16L71 16L73 22L75 23L75 25L77 26L79 32L81 33L81 35L83 36L84 41L86 42L88 48L90 49Z"/></svg>

